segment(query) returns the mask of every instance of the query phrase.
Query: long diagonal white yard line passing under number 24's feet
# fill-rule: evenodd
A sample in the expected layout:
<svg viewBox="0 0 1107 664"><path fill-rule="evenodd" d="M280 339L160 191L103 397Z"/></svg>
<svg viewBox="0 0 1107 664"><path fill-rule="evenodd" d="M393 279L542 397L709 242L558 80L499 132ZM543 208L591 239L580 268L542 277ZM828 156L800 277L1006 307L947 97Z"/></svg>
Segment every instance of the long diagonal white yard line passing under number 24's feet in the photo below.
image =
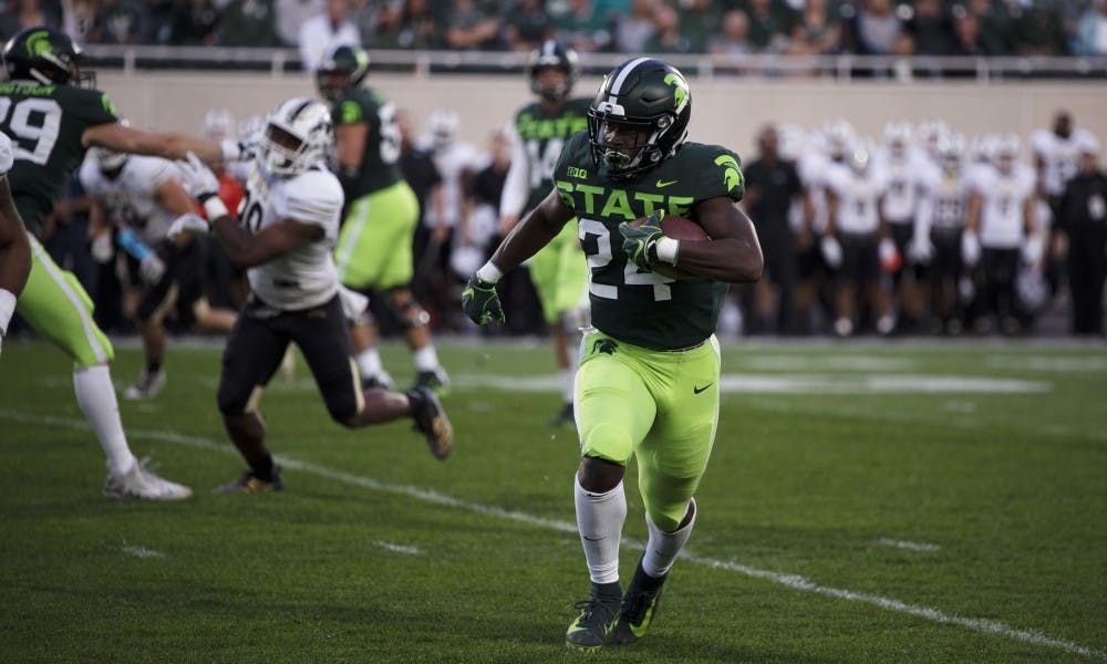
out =
<svg viewBox="0 0 1107 664"><path fill-rule="evenodd" d="M23 424L39 424L45 426L54 426L59 428L68 428L73 430L82 430L82 432L89 430L87 425L83 421L73 419L69 417L56 417L50 415L46 416L27 415L13 411L0 409L0 419L19 422ZM130 435L132 438L145 438L147 440L161 440L165 443L174 443L177 445L186 445L189 447L208 449L228 455L238 454L228 444L216 443L210 438L204 438L199 436L188 436L184 434L175 434L175 433L157 432L157 430L144 430L144 429L131 429ZM454 507L457 509L463 509L466 511L484 516L495 517L499 519L507 519L520 523L527 523L529 526L537 526L539 528L546 528L548 530L555 530L558 532L577 535L576 523L571 523L569 521L548 519L545 517L538 517L518 510L505 509L503 507L497 507L494 505L482 505L479 502L469 502L466 500L462 500L459 498L454 498L453 496L439 494L438 491L430 489L421 489L418 487L410 485L397 485L392 483L385 483L377 479L373 479L371 477L365 477L362 475L353 475L351 473L343 473L341 470L334 470L332 468L328 468L324 466L317 466L314 464L298 461L296 459L291 459L283 456L276 457L276 460L283 468L287 469L302 470L304 473L311 473L313 475L318 475L327 479L342 481L349 485L359 486L366 489L407 496L411 498L415 498L416 500L422 500L424 502L428 502L432 505ZM641 550L643 548L642 542L634 540L623 540L623 543L631 549ZM1041 632L1034 632L1030 630L1018 630L993 620L979 619L979 618L963 618L960 615L945 613L938 609L908 604L906 602L901 602L899 600L893 600L890 598L883 598L880 595L875 595L863 592L856 592L852 590L830 588L827 585L819 585L815 581L811 581L809 579L796 574L785 574L782 572L774 572L769 570L752 568L734 561L718 560L715 558L699 556L690 550L683 551L682 558L690 562L699 563L712 569L737 572L739 574L752 577L754 579L763 579L766 581L772 581L774 583L785 585L793 590L811 592L815 594L836 598L839 600L847 600L850 602L861 602L866 604L871 604L873 606L878 606L880 609L884 609L887 611L892 611L896 613L906 613L908 615L922 618L942 624L959 625L968 630L971 630L973 632L996 634L1000 636L1012 639L1014 641L1021 641L1023 643L1031 643L1044 647L1061 650L1070 654L1083 655L1086 657L1096 657L1099 660L1107 661L1107 652L1097 651L1080 645L1078 643L1074 643L1072 641L1053 639L1052 636L1047 636L1045 634L1042 634Z"/></svg>

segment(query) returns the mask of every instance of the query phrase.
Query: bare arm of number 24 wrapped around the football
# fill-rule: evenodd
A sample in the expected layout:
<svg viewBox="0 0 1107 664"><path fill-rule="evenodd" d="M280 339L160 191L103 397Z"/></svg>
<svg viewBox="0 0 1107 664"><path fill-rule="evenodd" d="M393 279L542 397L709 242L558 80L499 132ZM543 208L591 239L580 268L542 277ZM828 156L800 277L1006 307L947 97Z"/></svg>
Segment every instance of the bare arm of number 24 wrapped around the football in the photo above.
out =
<svg viewBox="0 0 1107 664"><path fill-rule="evenodd" d="M749 217L726 198L705 200L696 211L712 241L681 242L676 267L683 272L727 283L752 283L761 279L765 259Z"/></svg>

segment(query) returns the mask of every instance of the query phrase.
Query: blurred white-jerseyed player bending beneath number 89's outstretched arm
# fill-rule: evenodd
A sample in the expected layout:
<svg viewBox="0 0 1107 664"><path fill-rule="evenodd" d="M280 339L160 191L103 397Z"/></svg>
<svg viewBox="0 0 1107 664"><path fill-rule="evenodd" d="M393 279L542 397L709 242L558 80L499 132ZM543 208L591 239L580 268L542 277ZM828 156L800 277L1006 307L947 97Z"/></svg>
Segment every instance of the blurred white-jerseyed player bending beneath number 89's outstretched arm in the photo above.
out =
<svg viewBox="0 0 1107 664"><path fill-rule="evenodd" d="M173 315L184 330L228 332L235 312L208 307L201 242L190 236L166 237L173 221L192 215L194 205L173 162L94 147L79 177L93 200L93 256L101 262L114 259L113 237L125 251L127 310L137 321L146 366L123 395L153 398L166 381L165 318Z"/></svg>

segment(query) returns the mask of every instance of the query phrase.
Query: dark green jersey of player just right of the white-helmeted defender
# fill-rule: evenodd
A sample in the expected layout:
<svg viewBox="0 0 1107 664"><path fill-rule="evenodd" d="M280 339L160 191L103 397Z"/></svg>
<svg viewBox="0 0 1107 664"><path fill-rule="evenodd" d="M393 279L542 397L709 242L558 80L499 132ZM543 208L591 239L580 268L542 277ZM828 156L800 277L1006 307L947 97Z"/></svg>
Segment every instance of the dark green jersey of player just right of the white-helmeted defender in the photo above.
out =
<svg viewBox="0 0 1107 664"><path fill-rule="evenodd" d="M334 103L335 126L365 123L365 151L356 173L340 173L346 201L379 191L403 179L400 173L400 127L396 107L372 90L351 90Z"/></svg>

